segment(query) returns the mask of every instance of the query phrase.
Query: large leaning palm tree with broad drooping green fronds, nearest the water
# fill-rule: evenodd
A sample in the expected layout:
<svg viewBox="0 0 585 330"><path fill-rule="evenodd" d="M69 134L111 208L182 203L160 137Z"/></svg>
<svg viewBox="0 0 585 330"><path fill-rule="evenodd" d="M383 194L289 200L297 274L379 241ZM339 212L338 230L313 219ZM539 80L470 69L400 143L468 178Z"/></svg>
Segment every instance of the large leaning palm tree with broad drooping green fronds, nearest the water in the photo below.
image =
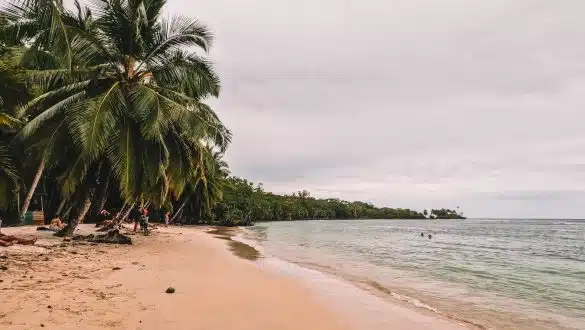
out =
<svg viewBox="0 0 585 330"><path fill-rule="evenodd" d="M38 8L47 2L51 16ZM161 19L165 3L103 0L91 10L78 5L75 13L59 1L22 0L4 11L11 26L30 30L21 35L37 53L54 59L53 68L31 74L42 94L22 108L31 120L20 138L47 125L71 135L78 155L63 182L68 194L84 200L77 220L93 196L94 187L84 187L96 181L87 179L92 167L111 167L127 201L158 191L162 204L176 172L189 177L186 168L197 155L186 146L207 141L225 150L231 140L203 103L220 90L211 64L195 49L209 49L211 32L188 17ZM44 21L29 24L39 31L34 34L27 19L39 11ZM57 61L58 54L65 57Z"/></svg>

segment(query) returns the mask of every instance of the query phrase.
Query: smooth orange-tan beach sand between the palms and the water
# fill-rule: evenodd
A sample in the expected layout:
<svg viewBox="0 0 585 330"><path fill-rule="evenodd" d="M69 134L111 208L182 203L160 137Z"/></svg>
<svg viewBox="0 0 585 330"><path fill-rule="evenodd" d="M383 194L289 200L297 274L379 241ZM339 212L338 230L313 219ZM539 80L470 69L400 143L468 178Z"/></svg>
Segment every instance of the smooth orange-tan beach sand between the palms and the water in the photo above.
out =
<svg viewBox="0 0 585 330"><path fill-rule="evenodd" d="M350 329L309 288L247 260L255 250L222 232L159 228L127 246L35 229L2 229L39 237L35 246L0 247L2 329ZM417 328L403 319L393 328ZM430 328L459 328L437 321Z"/></svg>

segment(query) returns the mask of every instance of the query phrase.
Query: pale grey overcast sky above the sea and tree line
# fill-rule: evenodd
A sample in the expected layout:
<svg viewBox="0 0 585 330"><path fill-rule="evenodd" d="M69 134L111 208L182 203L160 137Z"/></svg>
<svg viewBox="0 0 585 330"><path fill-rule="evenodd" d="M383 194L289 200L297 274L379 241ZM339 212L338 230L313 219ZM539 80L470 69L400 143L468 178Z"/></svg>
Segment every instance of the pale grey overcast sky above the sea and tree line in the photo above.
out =
<svg viewBox="0 0 585 330"><path fill-rule="evenodd" d="M168 0L211 27L266 190L468 217L585 218L582 0Z"/></svg>

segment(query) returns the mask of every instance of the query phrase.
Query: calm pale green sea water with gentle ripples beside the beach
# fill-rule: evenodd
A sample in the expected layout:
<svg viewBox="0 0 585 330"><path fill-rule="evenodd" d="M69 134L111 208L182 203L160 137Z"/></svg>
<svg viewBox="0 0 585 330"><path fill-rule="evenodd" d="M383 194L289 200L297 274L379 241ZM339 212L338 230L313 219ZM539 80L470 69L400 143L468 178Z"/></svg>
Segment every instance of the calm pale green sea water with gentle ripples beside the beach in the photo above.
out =
<svg viewBox="0 0 585 330"><path fill-rule="evenodd" d="M269 256L485 328L585 329L585 221L298 221L251 233Z"/></svg>

